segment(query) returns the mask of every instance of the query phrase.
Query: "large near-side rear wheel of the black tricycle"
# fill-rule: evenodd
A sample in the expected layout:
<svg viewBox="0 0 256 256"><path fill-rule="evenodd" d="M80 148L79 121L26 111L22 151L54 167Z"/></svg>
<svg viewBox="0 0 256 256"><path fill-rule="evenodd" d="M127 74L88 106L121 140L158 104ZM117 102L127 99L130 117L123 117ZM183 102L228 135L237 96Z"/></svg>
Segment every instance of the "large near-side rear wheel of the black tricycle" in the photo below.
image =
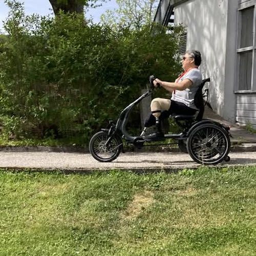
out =
<svg viewBox="0 0 256 256"><path fill-rule="evenodd" d="M218 164L227 158L229 150L229 135L217 124L201 124L189 134L187 139L188 154L200 164Z"/></svg>

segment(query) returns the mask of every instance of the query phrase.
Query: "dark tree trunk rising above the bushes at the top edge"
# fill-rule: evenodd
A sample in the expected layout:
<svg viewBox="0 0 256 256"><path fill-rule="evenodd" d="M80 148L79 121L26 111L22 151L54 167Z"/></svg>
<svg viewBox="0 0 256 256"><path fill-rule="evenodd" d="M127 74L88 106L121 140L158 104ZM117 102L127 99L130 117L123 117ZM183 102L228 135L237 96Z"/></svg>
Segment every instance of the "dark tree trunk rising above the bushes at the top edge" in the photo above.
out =
<svg viewBox="0 0 256 256"><path fill-rule="evenodd" d="M83 4L81 0L68 0L67 4L61 3L59 0L49 0L54 14L58 14L60 10L62 10L65 13L72 13L72 12L77 12L77 13L83 13Z"/></svg>

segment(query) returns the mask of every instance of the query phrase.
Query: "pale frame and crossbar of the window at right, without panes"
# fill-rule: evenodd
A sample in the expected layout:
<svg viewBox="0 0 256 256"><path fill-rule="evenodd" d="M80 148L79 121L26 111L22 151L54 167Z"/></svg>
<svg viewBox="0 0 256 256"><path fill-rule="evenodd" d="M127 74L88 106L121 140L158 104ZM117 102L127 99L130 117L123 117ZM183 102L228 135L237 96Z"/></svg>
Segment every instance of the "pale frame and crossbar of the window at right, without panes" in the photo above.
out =
<svg viewBox="0 0 256 256"><path fill-rule="evenodd" d="M242 12L245 9L254 7L253 10L253 25L252 25L252 46L241 48L241 28L242 28ZM251 89L239 90L239 78L240 78L240 56L241 53L252 51L252 67L251 67ZM239 4L238 9L238 30L237 30L237 50L236 50L236 86L234 87L234 93L255 93L256 92L256 0L249 0Z"/></svg>

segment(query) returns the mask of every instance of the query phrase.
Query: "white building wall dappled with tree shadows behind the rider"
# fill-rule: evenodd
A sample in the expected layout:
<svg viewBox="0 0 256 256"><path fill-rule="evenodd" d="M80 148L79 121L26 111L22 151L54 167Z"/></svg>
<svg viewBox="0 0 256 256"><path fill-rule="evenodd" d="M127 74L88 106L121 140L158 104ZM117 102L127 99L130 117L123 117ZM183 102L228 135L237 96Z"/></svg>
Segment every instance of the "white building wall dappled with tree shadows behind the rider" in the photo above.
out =
<svg viewBox="0 0 256 256"><path fill-rule="evenodd" d="M187 49L196 49L202 54L200 70L203 78L211 78L207 87L212 108L224 118L234 121L234 113L225 111L226 98L224 102L227 13L228 0L190 0L175 7L175 24L183 24L187 28ZM236 36L231 40L235 41ZM228 87L226 91L230 93L229 100L232 99L228 109L234 112L233 84Z"/></svg>

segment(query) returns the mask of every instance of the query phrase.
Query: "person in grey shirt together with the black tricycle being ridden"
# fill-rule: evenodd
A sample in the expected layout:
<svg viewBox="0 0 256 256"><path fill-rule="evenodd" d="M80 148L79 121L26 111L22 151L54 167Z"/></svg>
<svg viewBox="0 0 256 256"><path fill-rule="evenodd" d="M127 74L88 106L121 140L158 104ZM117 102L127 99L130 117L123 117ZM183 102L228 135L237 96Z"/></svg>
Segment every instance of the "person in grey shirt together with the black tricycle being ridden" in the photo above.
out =
<svg viewBox="0 0 256 256"><path fill-rule="evenodd" d="M198 69L201 63L199 51L187 51L183 56L184 73L175 82L165 82L154 76L150 77L147 92L126 106L120 113L116 123L110 129L102 129L93 135L89 143L92 156L100 162L111 162L123 150L123 140L126 143L142 147L144 142L175 139L180 150L188 153L193 160L200 164L217 164L223 160L229 161L230 150L229 127L210 120L203 119L204 100L208 90L202 93L206 82ZM151 102L151 115L145 121L145 127L139 136L131 136L126 131L129 115L135 105L142 99L152 95L156 87L163 87L172 93L172 98L155 98ZM163 118L172 117L182 128L179 134L164 134L161 130ZM148 127L156 125L157 131L145 135Z"/></svg>

